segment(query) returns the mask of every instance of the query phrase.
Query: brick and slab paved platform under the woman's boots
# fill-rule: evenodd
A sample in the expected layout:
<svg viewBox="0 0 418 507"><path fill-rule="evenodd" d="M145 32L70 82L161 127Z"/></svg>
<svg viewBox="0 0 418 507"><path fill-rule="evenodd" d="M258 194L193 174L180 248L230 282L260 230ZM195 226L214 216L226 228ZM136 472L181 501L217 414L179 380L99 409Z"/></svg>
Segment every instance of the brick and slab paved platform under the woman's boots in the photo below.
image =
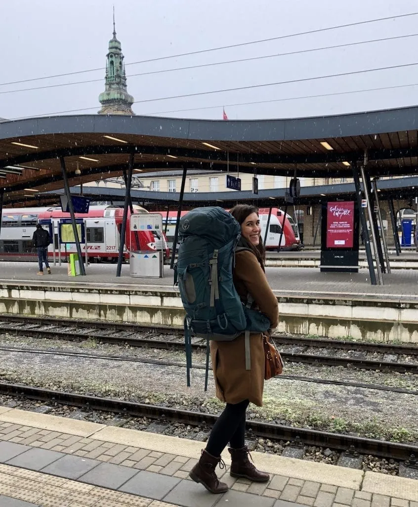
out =
<svg viewBox="0 0 418 507"><path fill-rule="evenodd" d="M418 507L418 481L254 452L271 474L230 490L188 479L201 442L0 407L2 507Z"/></svg>

